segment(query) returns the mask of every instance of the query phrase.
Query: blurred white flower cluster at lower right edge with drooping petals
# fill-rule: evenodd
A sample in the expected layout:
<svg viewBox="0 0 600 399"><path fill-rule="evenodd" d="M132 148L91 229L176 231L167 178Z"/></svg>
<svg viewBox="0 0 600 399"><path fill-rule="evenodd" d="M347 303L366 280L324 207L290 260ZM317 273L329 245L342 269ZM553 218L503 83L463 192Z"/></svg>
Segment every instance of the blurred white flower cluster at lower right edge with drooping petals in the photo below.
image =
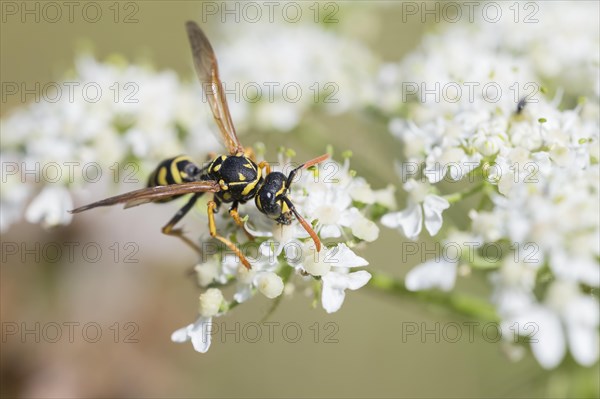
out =
<svg viewBox="0 0 600 399"><path fill-rule="evenodd" d="M485 218L491 231L518 243L492 276L504 328L535 323L532 349L546 368L564 358L565 341L578 363L591 366L600 339L600 307L589 295L600 287L600 170L598 164L552 169L499 196L492 211L473 215L473 225ZM542 296L534 294L535 276L549 281Z"/></svg>

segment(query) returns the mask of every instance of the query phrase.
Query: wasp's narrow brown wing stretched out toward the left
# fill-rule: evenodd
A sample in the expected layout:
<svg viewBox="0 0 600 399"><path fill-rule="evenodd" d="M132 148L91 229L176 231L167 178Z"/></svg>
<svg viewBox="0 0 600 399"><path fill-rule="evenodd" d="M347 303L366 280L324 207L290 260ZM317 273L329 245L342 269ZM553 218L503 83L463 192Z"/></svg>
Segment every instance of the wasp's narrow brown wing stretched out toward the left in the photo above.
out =
<svg viewBox="0 0 600 399"><path fill-rule="evenodd" d="M106 198L101 201L97 201L88 205L84 205L77 209L69 211L71 213L79 213L87 211L88 209L96 208L99 206L110 206L116 204L125 204L125 208L132 206L146 204L148 202L154 202L158 200L167 199L176 195L190 194L190 193L205 193L212 192L216 193L220 191L221 187L213 180L203 180L191 183L181 184L170 184L168 186L156 186L142 188L140 190L131 191L125 194L117 195L114 197Z"/></svg>

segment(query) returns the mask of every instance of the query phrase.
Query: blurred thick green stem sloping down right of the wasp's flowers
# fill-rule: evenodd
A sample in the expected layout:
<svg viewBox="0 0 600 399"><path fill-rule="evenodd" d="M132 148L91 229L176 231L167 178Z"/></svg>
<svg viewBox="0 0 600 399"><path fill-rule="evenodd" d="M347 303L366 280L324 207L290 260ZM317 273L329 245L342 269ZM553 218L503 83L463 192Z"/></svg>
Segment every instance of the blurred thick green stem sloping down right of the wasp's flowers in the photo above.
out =
<svg viewBox="0 0 600 399"><path fill-rule="evenodd" d="M404 281L373 273L367 287L374 291L385 292L398 298L412 298L423 303L434 304L439 308L451 311L457 315L483 322L499 322L496 311L487 302L471 295L457 292L445 293L440 291L409 291L404 286Z"/></svg>

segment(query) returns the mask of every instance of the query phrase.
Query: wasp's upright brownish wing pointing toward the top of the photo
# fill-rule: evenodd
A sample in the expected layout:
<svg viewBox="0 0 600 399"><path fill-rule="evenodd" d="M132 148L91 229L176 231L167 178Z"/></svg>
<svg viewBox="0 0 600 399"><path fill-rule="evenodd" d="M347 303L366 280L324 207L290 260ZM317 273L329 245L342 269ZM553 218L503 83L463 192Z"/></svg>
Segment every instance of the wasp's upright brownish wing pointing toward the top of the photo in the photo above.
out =
<svg viewBox="0 0 600 399"><path fill-rule="evenodd" d="M229 150L230 155L242 153L244 152L244 147L237 138L235 128L233 127L231 114L227 106L227 98L225 97L223 84L219 78L219 68L215 52L208 38L195 22L188 21L185 26L192 48L196 73L200 79L202 90L206 94L217 126L219 126L225 146Z"/></svg>

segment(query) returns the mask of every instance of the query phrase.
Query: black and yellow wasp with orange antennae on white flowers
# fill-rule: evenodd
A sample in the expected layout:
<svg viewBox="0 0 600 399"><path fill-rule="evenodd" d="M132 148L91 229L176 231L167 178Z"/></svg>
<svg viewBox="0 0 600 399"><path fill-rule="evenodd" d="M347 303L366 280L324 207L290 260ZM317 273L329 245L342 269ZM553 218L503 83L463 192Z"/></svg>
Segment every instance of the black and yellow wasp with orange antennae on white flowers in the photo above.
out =
<svg viewBox="0 0 600 399"><path fill-rule="evenodd" d="M166 159L152 172L146 188L97 201L71 212L79 213L115 204L124 204L125 208L129 208L149 202L169 202L182 195L191 194L187 203L162 228L162 232L179 237L200 252L200 248L187 238L181 229L176 229L175 225L194 207L202 195L212 193L213 198L207 205L210 235L226 245L239 257L242 264L250 269L250 263L239 248L217 232L215 213L222 203L231 204L229 214L246 232L243 219L238 213L238 206L254 199L258 210L278 224L289 225L295 217L314 241L317 251L320 251L321 242L317 234L298 213L288 193L294 177L300 170L323 162L328 155L303 163L287 176L271 171L266 161L257 164L252 151L244 149L238 140L219 78L217 59L208 38L193 21L186 23L186 30L196 73L229 154L216 156L203 167L195 164L186 155ZM246 234L249 235L247 232ZM250 235L249 237L252 238Z"/></svg>

